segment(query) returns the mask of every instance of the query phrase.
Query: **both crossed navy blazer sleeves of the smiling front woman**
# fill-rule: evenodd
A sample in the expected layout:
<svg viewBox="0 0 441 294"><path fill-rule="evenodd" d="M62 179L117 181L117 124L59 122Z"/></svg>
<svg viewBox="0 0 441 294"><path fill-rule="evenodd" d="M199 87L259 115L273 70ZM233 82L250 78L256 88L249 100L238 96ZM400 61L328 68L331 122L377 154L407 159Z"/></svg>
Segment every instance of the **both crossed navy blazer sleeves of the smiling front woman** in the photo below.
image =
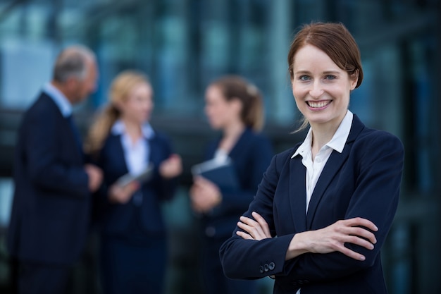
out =
<svg viewBox="0 0 441 294"><path fill-rule="evenodd" d="M287 160L279 157L281 162ZM350 195L345 219L361 216L378 226L375 232L377 244L373 250L348 244L356 252L366 256L364 262L352 259L340 252L329 254L306 253L285 262L287 247L294 233L278 235L261 241L243 240L235 233L221 247L221 261L225 274L230 278L259 278L276 274L276 278L288 281L330 281L353 274L354 271L372 267L378 262L380 248L392 224L397 209L399 186L402 177L404 148L397 137L384 132L375 132L358 140L352 147L348 164L356 173L355 188ZM258 212L270 226L275 236L273 195L279 180L280 164L275 157L266 171L256 199L245 216ZM290 216L277 216L281 221L290 221ZM337 219L334 220L334 222ZM316 229L316 228L314 228ZM235 231L237 231L236 228ZM262 268L263 267L263 271ZM268 269L268 270L266 270Z"/></svg>

